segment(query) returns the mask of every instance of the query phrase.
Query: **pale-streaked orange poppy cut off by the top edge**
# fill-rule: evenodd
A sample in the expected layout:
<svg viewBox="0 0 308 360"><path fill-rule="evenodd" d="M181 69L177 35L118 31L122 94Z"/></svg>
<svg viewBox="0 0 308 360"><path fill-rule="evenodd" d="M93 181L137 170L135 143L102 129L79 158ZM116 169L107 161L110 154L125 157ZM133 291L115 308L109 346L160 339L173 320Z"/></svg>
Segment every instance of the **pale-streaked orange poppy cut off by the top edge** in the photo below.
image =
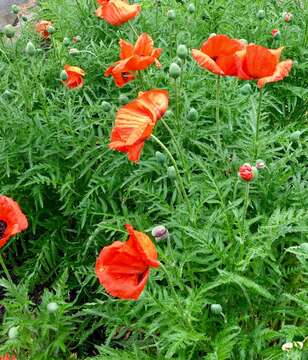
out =
<svg viewBox="0 0 308 360"><path fill-rule="evenodd" d="M123 0L98 0L97 2L101 6L96 10L96 16L114 26L126 23L141 11L139 4L130 5Z"/></svg>

